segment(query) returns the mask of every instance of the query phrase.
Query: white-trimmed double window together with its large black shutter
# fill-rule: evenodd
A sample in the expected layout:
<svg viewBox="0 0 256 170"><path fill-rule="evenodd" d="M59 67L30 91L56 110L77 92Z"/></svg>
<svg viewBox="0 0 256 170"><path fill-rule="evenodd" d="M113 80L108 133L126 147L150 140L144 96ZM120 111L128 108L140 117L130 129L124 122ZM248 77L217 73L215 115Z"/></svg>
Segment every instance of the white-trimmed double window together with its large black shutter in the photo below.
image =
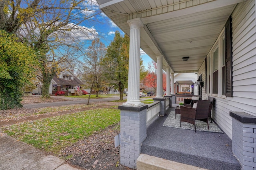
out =
<svg viewBox="0 0 256 170"><path fill-rule="evenodd" d="M232 96L232 26L231 17L208 54L208 93Z"/></svg>

